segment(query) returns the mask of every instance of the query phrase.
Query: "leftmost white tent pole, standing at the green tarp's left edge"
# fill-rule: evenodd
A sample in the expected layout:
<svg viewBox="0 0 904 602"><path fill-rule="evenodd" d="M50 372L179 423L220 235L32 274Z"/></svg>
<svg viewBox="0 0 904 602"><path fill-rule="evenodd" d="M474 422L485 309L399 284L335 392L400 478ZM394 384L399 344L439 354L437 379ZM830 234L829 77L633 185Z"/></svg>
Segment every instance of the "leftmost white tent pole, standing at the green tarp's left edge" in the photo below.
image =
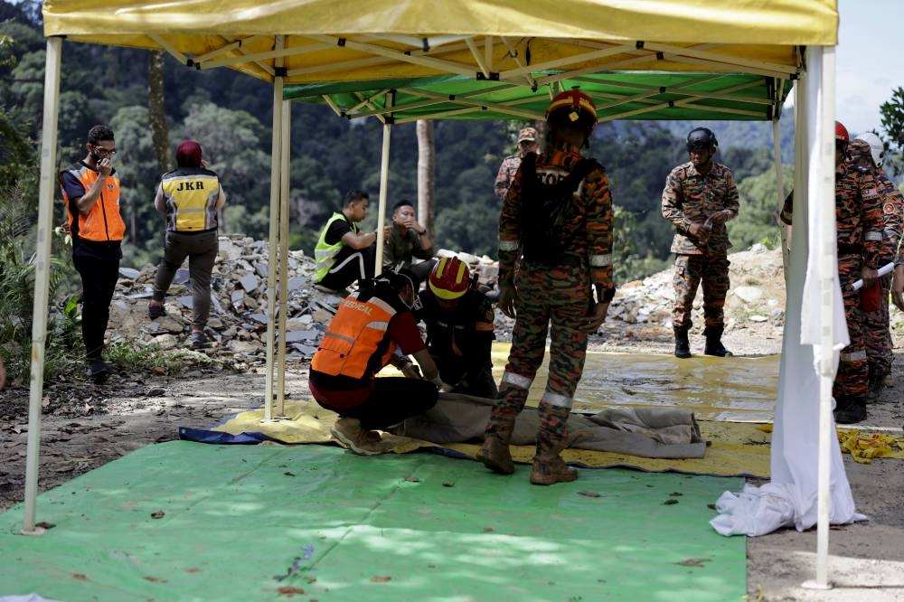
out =
<svg viewBox="0 0 904 602"><path fill-rule="evenodd" d="M50 297L51 231L53 190L56 187L57 112L60 108L62 38L47 38L44 66L44 118L41 127L41 183L38 192L37 263L34 267L32 318L32 382L28 399L28 447L25 452L25 503L22 533L38 535L34 518L38 497L38 466L41 451L41 400L44 390L44 341Z"/></svg>

